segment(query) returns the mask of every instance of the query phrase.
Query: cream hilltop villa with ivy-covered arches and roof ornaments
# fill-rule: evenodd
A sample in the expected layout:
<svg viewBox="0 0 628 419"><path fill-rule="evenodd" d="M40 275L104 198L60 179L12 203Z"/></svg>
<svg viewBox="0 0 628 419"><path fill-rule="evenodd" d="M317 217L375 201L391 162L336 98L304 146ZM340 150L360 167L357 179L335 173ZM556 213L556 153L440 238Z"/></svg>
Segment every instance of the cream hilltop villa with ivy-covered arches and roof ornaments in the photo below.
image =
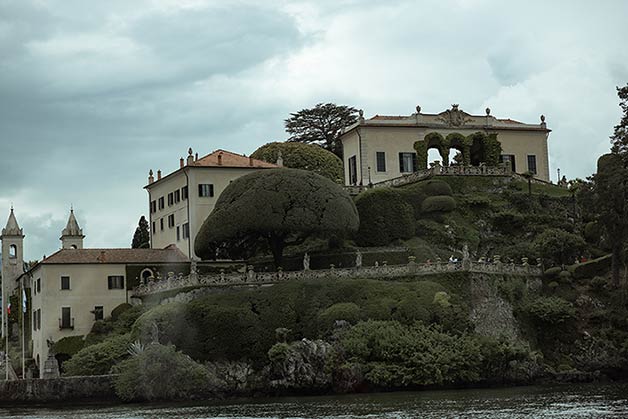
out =
<svg viewBox="0 0 628 419"><path fill-rule="evenodd" d="M443 148L441 161L447 165L450 149L462 151L464 141L461 139L470 139L476 133L496 136L502 147L502 160L510 162L514 172L530 171L538 179L550 180L547 147L550 130L544 116L541 115L539 124L526 124L495 118L488 108L485 115L470 115L458 105L452 105L451 109L438 114L422 113L419 106L409 116L376 115L364 119L360 112L358 122L345 128L341 136L345 183L367 185L425 167L427 162L422 159L427 159L427 155L417 160L417 141L425 141L427 149ZM476 146L469 140L468 147ZM470 162L472 165L482 163L472 158Z"/></svg>

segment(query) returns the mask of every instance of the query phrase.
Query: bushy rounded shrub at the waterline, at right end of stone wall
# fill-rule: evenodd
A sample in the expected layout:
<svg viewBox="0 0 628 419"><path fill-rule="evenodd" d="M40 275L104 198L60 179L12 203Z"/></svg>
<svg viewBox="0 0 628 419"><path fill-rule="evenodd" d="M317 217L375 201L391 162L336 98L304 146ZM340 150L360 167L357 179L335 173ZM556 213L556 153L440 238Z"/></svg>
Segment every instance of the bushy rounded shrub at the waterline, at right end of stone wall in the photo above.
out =
<svg viewBox="0 0 628 419"><path fill-rule="evenodd" d="M115 372L115 392L125 401L200 398L210 392L212 381L204 366L172 345L149 345L117 365Z"/></svg>

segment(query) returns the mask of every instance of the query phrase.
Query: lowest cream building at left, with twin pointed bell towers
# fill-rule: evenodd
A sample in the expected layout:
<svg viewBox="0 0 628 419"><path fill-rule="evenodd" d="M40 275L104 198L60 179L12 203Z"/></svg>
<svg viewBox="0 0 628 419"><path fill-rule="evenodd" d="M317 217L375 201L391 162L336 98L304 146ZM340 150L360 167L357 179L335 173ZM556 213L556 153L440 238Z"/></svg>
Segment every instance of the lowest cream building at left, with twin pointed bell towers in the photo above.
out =
<svg viewBox="0 0 628 419"><path fill-rule="evenodd" d="M2 245L16 246L15 263L9 271L22 264L23 232L13 211L3 230ZM9 293L21 295L21 287L30 288L30 333L26 352L43 374L48 357L47 341L68 336L87 335L97 320L111 316L114 308L129 302L130 290L148 277L165 276L168 272L188 274L189 258L175 246L165 249L84 249L83 231L74 211L70 212L61 234L61 249L44 258L28 271L17 275ZM4 257L4 252L3 252ZM3 274L5 273L3 266ZM17 272L17 271L16 271ZM4 285L4 284L3 284ZM20 310L21 307L15 307Z"/></svg>

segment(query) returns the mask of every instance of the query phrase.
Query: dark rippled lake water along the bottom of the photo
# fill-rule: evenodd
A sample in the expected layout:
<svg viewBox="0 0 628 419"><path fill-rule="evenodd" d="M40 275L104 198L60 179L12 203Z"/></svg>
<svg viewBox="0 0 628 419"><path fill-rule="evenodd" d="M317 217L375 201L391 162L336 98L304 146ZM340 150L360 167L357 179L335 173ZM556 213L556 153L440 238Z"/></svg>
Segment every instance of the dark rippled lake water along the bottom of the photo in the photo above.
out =
<svg viewBox="0 0 628 419"><path fill-rule="evenodd" d="M0 419L628 418L628 384L228 400L205 404L0 407Z"/></svg>

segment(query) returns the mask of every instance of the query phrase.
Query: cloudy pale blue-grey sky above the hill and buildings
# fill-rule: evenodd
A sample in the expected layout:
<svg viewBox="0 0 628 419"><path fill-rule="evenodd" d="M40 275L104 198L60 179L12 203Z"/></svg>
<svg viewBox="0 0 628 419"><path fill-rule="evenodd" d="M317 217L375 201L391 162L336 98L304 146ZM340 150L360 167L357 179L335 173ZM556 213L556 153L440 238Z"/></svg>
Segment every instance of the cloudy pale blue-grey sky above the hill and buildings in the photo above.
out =
<svg viewBox="0 0 628 419"><path fill-rule="evenodd" d="M628 82L628 1L0 0L0 223L25 258L128 247L149 169L192 147L249 154L291 111L459 103L547 116L551 175L595 171Z"/></svg>

